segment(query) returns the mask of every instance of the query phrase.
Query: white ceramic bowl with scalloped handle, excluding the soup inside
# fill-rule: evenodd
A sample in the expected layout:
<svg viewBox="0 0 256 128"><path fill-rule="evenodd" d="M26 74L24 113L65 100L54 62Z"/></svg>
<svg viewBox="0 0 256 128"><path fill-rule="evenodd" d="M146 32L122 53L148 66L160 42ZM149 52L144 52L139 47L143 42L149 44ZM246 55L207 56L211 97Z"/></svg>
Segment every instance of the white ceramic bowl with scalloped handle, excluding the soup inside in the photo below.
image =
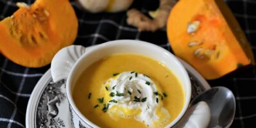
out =
<svg viewBox="0 0 256 128"><path fill-rule="evenodd" d="M74 104L72 93L76 80L83 70L92 63L117 53L134 53L148 56L166 65L178 77L185 93L184 106L175 120L166 127L175 125L182 118L185 111L187 111L191 100L191 81L182 63L171 52L166 51L166 49L138 40L115 40L97 45L89 51L85 51L85 47L82 46L72 45L65 47L55 55L51 63L53 81L67 79L67 99L73 111L74 127L79 127L79 125L98 127L82 115L76 104Z"/></svg>

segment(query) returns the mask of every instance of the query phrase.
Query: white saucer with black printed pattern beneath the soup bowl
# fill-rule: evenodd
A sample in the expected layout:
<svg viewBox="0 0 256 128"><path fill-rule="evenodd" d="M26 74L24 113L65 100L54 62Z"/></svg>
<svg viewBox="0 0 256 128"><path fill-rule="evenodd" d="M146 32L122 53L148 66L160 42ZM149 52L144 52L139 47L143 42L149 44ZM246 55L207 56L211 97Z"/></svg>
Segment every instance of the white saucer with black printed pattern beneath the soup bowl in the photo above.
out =
<svg viewBox="0 0 256 128"><path fill-rule="evenodd" d="M192 85L192 99L210 88L207 81L194 68L185 61L179 60L189 73ZM31 93L26 111L26 127L72 127L72 115L69 111L69 102L65 93L65 81L53 83L51 70L47 70ZM80 127L83 126L80 125Z"/></svg>

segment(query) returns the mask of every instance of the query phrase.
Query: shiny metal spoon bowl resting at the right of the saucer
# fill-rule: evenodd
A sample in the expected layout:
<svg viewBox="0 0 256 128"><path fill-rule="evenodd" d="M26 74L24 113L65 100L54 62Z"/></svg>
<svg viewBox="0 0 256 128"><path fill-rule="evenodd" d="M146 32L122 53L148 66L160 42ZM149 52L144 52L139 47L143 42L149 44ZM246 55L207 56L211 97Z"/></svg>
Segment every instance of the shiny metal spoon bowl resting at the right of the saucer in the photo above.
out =
<svg viewBox="0 0 256 128"><path fill-rule="evenodd" d="M210 123L208 127L230 127L235 116L235 97L223 86L210 88L194 97L191 106L205 101L210 108Z"/></svg>

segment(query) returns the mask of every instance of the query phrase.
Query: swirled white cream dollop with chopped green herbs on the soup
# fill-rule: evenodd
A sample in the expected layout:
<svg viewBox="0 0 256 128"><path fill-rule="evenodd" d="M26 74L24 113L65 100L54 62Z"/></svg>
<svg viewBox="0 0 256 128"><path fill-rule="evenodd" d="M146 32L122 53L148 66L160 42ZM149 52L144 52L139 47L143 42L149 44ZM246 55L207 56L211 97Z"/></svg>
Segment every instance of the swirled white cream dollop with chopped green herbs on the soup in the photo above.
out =
<svg viewBox="0 0 256 128"><path fill-rule="evenodd" d="M157 86L145 74L123 72L103 83L112 118L134 118L147 127L164 127L170 115L163 107Z"/></svg>

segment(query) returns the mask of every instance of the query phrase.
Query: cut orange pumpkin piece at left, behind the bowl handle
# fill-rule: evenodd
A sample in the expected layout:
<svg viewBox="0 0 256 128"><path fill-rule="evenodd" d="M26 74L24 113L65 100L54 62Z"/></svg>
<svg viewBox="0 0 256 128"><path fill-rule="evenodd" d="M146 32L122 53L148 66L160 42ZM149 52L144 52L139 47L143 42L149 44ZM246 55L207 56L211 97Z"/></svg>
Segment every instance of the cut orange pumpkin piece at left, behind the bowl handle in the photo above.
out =
<svg viewBox="0 0 256 128"><path fill-rule="evenodd" d="M17 5L19 10L0 22L0 51L6 58L24 67L43 67L73 44L78 19L68 0Z"/></svg>

